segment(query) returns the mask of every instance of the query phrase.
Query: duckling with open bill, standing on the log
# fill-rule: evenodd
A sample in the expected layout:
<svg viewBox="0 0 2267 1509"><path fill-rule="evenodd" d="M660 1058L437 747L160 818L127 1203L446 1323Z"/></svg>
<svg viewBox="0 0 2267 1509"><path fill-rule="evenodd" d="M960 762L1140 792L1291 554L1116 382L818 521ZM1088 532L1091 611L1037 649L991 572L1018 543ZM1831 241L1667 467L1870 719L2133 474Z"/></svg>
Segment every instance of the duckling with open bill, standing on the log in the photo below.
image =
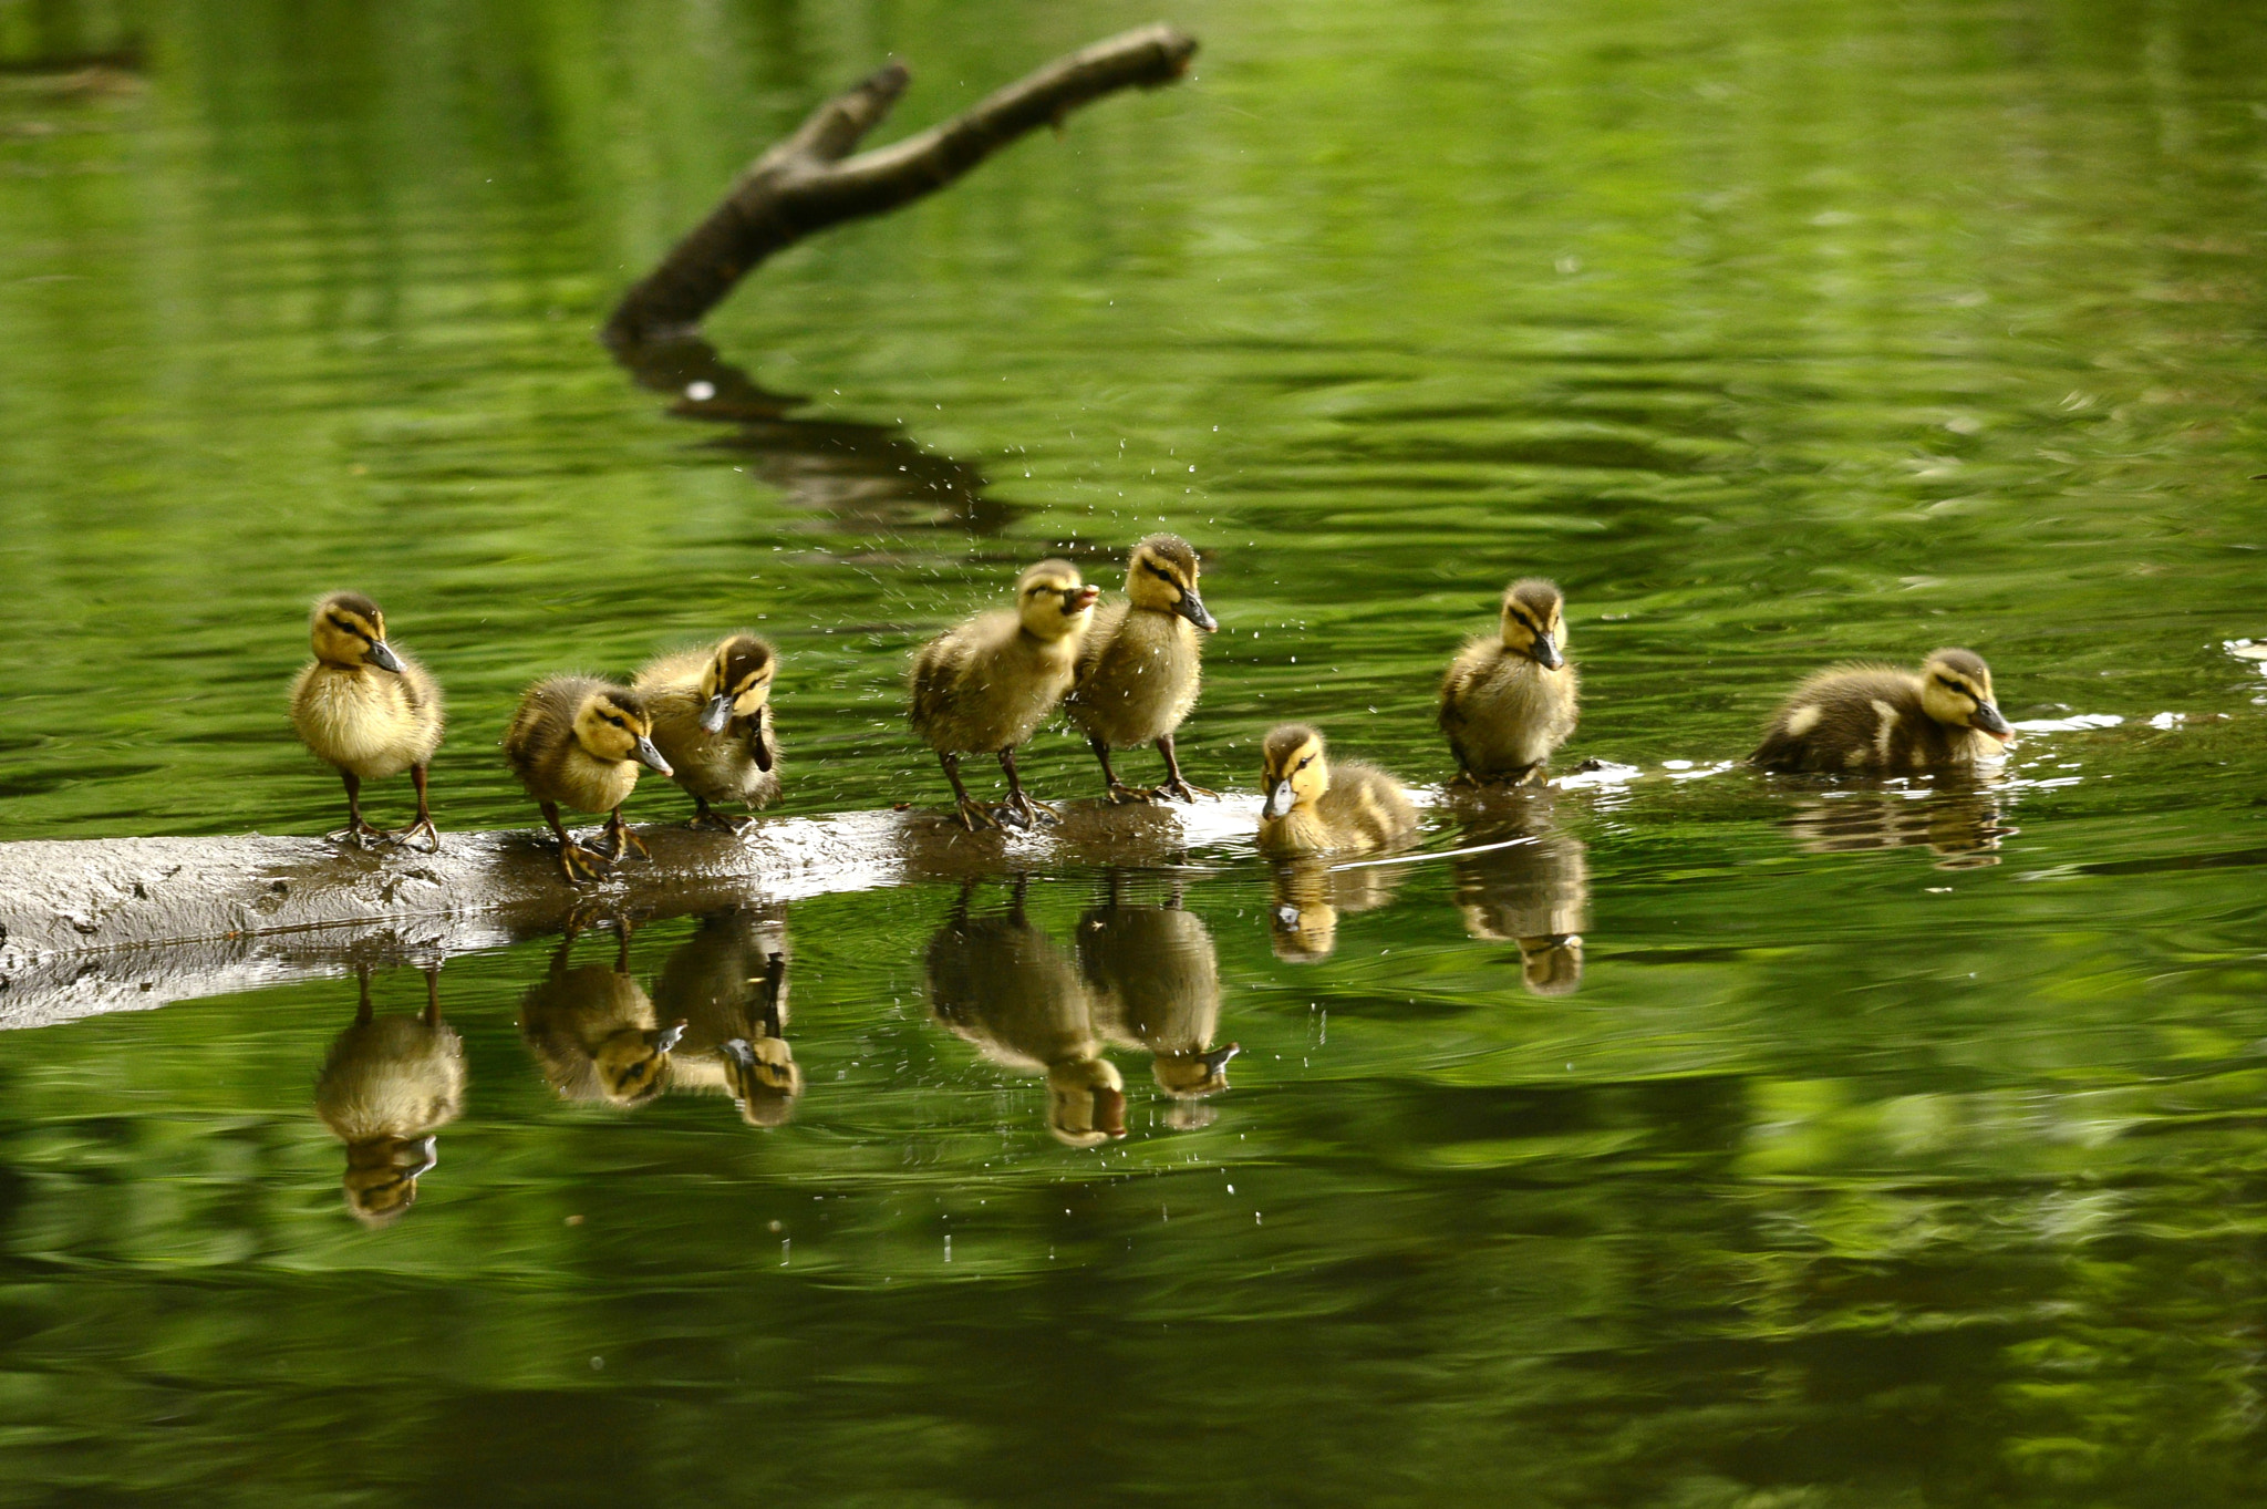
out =
<svg viewBox="0 0 2267 1509"><path fill-rule="evenodd" d="M1095 596L1068 560L1043 560L1016 580L1013 609L977 614L914 657L914 732L945 766L968 832L1054 818L1052 807L1025 795L1016 745L1070 691ZM961 786L961 755L977 752L997 755L1007 773L1007 804L991 816Z"/></svg>

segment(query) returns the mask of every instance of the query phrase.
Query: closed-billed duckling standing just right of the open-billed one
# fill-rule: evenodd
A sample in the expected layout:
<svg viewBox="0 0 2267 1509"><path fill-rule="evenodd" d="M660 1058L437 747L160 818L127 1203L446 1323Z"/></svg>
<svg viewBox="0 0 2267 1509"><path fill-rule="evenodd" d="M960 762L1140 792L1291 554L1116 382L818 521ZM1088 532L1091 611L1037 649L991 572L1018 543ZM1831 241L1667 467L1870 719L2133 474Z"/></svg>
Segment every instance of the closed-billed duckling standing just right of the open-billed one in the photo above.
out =
<svg viewBox="0 0 2267 1509"><path fill-rule="evenodd" d="M1220 623L1197 596L1197 553L1179 535L1149 535L1127 564L1127 600L1095 614L1079 650L1079 671L1063 700L1070 725L1086 734L1111 802L1195 802L1215 795L1181 779L1172 734L1197 705L1204 641L1197 630ZM1111 770L1111 750L1154 743L1165 757L1165 784L1136 791Z"/></svg>

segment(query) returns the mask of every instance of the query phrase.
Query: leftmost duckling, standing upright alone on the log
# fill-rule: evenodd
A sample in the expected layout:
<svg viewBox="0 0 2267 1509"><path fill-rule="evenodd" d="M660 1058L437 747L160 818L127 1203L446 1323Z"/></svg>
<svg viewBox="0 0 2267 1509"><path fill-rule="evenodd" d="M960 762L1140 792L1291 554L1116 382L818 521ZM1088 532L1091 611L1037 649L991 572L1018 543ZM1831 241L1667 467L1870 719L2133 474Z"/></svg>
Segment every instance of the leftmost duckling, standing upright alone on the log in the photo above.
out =
<svg viewBox="0 0 2267 1509"><path fill-rule="evenodd" d="M290 725L347 784L347 827L331 834L331 843L408 843L424 834L438 852L426 766L440 748L440 684L385 643L385 614L358 591L333 591L315 603L308 639L315 659L290 684ZM404 770L417 786L417 820L399 834L379 832L363 820L363 782Z"/></svg>

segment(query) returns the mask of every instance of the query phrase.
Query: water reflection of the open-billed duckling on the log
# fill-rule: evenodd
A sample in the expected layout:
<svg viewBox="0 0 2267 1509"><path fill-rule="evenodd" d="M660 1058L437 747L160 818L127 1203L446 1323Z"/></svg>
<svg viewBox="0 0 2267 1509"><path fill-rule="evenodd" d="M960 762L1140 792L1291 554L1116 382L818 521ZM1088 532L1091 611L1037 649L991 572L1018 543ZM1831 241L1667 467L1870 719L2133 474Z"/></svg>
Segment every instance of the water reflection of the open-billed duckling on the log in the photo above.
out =
<svg viewBox="0 0 2267 1509"><path fill-rule="evenodd" d="M1127 1135L1118 1067L1102 1058L1077 963L1025 918L1025 877L1004 913L970 918L975 881L929 938L929 1008L993 1063L1047 1076L1047 1131L1065 1146Z"/></svg>

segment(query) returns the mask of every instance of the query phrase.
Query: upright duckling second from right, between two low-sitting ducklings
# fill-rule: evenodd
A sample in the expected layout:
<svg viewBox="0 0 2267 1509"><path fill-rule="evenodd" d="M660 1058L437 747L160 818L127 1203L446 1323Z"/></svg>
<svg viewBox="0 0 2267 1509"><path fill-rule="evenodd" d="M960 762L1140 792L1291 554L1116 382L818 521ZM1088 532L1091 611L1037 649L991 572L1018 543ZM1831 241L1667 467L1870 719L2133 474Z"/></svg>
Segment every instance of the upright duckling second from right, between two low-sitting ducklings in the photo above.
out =
<svg viewBox="0 0 2267 1509"><path fill-rule="evenodd" d="M1512 582L1503 589L1501 630L1464 643L1440 684L1440 732L1455 755L1455 784L1537 779L1573 732L1578 691L1566 662L1566 598L1542 578Z"/></svg>

